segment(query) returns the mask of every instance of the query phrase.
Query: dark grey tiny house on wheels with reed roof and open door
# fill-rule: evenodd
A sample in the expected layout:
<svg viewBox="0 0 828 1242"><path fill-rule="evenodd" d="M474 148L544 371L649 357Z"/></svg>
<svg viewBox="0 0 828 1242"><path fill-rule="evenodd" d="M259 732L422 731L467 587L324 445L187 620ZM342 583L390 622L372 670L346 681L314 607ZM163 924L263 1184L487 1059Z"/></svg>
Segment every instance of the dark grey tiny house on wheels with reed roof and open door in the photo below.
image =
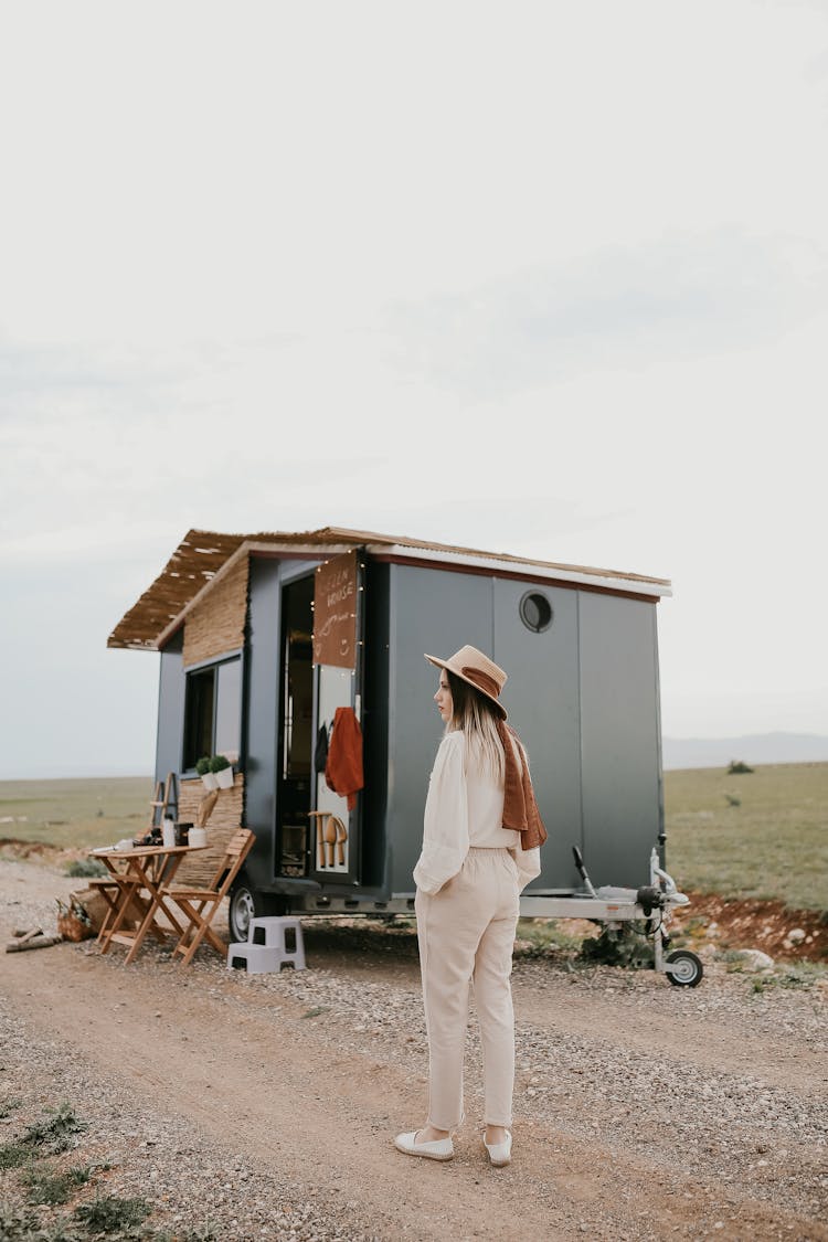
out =
<svg viewBox="0 0 828 1242"><path fill-rule="evenodd" d="M529 751L549 841L526 915L663 868L658 643L664 579L370 532L190 530L110 647L160 652L155 777L176 816L204 796L195 765L225 754L231 787L207 823L256 846L231 897L253 915L413 909L428 774L442 724L423 652L464 643L509 674L503 703ZM325 777L339 723L361 745L358 789ZM341 733L344 737L344 733ZM194 863L195 866L195 863Z"/></svg>

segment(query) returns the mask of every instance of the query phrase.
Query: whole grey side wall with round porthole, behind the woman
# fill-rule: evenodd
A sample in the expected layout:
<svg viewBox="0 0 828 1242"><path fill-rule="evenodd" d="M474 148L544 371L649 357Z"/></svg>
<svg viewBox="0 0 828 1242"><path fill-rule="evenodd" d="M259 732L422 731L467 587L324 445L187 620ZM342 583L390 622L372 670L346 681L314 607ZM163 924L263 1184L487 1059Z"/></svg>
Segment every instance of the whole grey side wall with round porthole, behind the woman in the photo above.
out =
<svg viewBox="0 0 828 1242"><path fill-rule="evenodd" d="M526 590L554 610L526 628ZM411 893L428 775L443 725L432 702L447 657L472 643L509 674L503 702L529 751L549 841L531 889L580 887L572 846L592 882L648 879L660 807L655 606L588 591L413 566L391 566L387 835L392 893Z"/></svg>

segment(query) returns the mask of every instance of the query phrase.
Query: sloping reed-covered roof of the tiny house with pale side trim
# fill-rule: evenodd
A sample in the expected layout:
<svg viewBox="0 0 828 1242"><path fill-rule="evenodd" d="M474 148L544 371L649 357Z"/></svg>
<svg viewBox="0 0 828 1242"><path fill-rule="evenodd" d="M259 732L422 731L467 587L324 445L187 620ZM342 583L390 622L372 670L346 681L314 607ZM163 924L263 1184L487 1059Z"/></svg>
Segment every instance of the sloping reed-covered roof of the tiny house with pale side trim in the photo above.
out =
<svg viewBox="0 0 828 1242"><path fill-rule="evenodd" d="M196 600L222 578L237 556L248 551L292 555L307 551L309 558L335 556L353 548L395 560L431 561L457 568L497 573L524 571L528 576L581 584L626 595L658 599L672 594L669 579L586 565L515 556L510 553L482 551L407 535L379 534L323 527L319 530L274 530L258 534L221 534L216 530L187 530L166 565L140 599L124 614L107 641L108 647L159 651L181 625Z"/></svg>

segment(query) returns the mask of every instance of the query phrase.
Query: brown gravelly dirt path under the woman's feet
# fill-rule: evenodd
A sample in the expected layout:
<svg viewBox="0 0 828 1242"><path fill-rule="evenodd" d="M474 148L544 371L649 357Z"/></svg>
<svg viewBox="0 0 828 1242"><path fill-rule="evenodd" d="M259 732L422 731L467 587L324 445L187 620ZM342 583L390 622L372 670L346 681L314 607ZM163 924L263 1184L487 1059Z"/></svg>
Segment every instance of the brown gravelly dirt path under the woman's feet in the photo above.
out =
<svg viewBox="0 0 828 1242"><path fill-rule="evenodd" d="M0 864L4 939L9 902L65 883L21 866ZM4 954L0 994L119 1098L339 1195L360 1236L828 1240L824 992L519 965L513 1164L489 1169L480 1145L473 1025L468 1120L437 1165L392 1146L425 1104L411 935L377 929L371 945L310 922L295 975L228 972L207 953L187 969L155 948L125 968L87 941Z"/></svg>

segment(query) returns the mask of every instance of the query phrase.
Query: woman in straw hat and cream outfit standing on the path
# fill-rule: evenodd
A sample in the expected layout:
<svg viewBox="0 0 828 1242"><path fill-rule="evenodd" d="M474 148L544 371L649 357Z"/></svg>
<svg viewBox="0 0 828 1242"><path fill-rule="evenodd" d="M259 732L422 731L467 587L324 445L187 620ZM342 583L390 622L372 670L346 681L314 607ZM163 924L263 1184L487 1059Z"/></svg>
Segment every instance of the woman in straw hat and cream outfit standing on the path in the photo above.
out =
<svg viewBox="0 0 828 1242"><path fill-rule="evenodd" d="M514 1012L511 950L519 893L540 874L546 840L526 753L499 702L506 674L477 647L439 668L434 702L446 724L426 799L413 878L428 1032L428 1118L400 1134L400 1151L451 1160L463 1120L463 1045L469 984L480 1025L483 1143L493 1165L511 1159Z"/></svg>

